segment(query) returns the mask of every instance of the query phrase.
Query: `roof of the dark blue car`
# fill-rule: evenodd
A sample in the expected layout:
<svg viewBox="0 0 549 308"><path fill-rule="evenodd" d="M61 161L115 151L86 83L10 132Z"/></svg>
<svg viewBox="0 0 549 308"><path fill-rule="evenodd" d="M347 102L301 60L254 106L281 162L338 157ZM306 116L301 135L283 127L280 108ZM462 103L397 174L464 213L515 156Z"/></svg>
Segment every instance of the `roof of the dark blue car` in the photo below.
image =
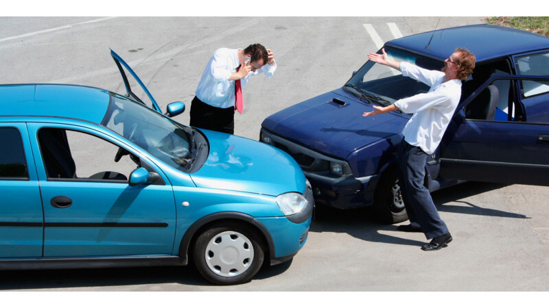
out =
<svg viewBox="0 0 549 308"><path fill-rule="evenodd" d="M549 38L527 31L495 25L465 25L428 31L386 43L445 60L456 48L466 48L484 62L517 53L549 48Z"/></svg>

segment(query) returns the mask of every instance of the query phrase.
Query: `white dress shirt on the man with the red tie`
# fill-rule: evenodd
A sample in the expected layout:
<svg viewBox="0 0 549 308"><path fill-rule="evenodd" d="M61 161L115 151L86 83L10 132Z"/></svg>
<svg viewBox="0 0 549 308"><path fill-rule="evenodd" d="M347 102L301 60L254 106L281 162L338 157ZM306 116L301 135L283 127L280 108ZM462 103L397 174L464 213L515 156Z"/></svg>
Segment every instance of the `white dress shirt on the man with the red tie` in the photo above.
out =
<svg viewBox="0 0 549 308"><path fill-rule="evenodd" d="M238 51L239 49L221 48L213 53L196 88L195 94L200 101L213 107L234 107L235 81L229 81L229 77L231 77L231 73L237 71L237 67L240 65ZM277 64L274 63L273 65L265 64L255 72L250 70L246 77L240 79L242 90L250 76L264 73L267 77L271 77L276 69Z"/></svg>

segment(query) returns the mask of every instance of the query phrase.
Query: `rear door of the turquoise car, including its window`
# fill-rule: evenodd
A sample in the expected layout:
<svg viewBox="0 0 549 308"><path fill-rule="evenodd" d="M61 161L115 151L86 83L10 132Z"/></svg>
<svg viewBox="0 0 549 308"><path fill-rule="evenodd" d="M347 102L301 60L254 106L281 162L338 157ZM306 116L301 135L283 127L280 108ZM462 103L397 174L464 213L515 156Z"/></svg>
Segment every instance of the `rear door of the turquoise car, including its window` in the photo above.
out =
<svg viewBox="0 0 549 308"><path fill-rule="evenodd" d="M0 258L42 257L42 201L24 123L0 124L0 200Z"/></svg>

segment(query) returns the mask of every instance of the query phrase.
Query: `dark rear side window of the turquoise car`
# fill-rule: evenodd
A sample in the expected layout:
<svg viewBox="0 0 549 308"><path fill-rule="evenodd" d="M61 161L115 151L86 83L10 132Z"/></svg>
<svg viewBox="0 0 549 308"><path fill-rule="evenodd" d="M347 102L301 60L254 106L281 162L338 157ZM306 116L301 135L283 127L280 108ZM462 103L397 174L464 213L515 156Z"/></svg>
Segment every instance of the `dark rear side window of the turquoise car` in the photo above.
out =
<svg viewBox="0 0 549 308"><path fill-rule="evenodd" d="M15 127L0 127L0 181L28 180L27 160L21 132Z"/></svg>

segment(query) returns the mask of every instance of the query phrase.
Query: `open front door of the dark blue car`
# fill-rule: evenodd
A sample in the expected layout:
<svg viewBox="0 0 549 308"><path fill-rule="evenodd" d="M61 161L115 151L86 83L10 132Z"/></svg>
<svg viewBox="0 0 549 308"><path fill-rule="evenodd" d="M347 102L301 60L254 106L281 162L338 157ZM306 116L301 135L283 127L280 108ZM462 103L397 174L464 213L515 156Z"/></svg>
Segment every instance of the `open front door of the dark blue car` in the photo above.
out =
<svg viewBox="0 0 549 308"><path fill-rule="evenodd" d="M549 185L549 90L538 90L525 98L521 88L524 82L546 84L547 75L496 74L482 84L458 107L441 142L440 176ZM488 111L472 116L474 112L469 112L467 105L490 91L484 102ZM528 108L526 99L535 101L536 107Z"/></svg>

